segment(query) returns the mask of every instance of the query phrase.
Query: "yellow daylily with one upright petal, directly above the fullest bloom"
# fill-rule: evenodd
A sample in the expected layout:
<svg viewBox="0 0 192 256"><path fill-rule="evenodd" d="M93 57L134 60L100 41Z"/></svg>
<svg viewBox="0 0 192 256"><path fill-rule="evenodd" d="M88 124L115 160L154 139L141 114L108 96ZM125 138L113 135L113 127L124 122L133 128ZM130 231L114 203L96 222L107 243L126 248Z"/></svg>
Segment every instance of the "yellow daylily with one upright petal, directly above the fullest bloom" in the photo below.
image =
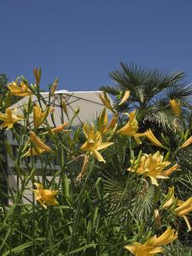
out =
<svg viewBox="0 0 192 256"><path fill-rule="evenodd" d="M123 136L130 136L135 137L137 143L141 143L139 137L145 136L145 132L137 133L138 131L138 122L136 119L136 110L132 111L131 113L125 113L129 116L129 121L127 124L122 127L117 133Z"/></svg>

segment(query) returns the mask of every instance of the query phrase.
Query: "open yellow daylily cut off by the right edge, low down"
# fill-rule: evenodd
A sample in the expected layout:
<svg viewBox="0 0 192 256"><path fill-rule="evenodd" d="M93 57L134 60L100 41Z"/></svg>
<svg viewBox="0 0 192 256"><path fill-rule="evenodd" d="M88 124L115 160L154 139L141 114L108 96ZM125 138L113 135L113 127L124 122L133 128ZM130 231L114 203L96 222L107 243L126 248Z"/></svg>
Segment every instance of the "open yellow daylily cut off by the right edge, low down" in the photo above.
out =
<svg viewBox="0 0 192 256"><path fill-rule="evenodd" d="M189 231L191 230L191 226L189 224L189 219L186 217L186 215L189 212L192 212L192 196L189 197L187 201L178 201L177 202L178 207L175 209L174 213L178 217L183 217L185 220L185 223L188 226Z"/></svg>

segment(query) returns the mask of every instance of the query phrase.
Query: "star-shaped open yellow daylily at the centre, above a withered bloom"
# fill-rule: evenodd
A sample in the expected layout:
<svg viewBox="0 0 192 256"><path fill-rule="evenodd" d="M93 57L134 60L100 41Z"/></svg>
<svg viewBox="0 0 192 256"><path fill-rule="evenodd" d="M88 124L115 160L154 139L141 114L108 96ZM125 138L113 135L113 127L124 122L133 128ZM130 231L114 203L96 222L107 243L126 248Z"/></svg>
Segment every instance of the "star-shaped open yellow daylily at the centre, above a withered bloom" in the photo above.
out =
<svg viewBox="0 0 192 256"><path fill-rule="evenodd" d="M81 150L89 151L90 154L95 156L96 160L105 163L106 161L102 158L102 154L98 151L108 148L113 143L102 143L102 135L99 131L95 131L94 125L84 124L84 135L87 141L81 146Z"/></svg>

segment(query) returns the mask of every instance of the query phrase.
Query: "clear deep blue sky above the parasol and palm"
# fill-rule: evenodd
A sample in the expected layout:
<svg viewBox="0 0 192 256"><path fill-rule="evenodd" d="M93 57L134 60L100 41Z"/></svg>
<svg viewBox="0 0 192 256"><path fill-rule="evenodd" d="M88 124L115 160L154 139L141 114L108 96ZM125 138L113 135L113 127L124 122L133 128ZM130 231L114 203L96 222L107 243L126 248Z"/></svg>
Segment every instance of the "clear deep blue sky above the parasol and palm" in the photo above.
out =
<svg viewBox="0 0 192 256"><path fill-rule="evenodd" d="M191 0L15 0L0 4L0 73L42 88L96 90L119 61L183 70L192 83Z"/></svg>

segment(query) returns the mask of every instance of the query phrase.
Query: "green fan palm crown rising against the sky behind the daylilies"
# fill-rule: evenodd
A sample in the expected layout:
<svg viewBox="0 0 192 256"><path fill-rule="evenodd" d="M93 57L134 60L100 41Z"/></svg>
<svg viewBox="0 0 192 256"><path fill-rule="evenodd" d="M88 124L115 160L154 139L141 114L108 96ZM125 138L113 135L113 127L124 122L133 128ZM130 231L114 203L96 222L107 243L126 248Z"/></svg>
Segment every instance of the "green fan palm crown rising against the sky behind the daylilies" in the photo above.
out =
<svg viewBox="0 0 192 256"><path fill-rule="evenodd" d="M120 62L120 68L109 73L109 77L116 85L102 86L100 89L113 96L119 96L125 90L130 90L131 96L125 105L119 108L116 104L116 108L119 112L138 108L137 116L142 126L153 124L163 130L172 129L174 119L177 117L170 108L170 99L177 99L185 104L189 103L189 97L192 96L192 84L184 83L183 72L168 73Z"/></svg>

